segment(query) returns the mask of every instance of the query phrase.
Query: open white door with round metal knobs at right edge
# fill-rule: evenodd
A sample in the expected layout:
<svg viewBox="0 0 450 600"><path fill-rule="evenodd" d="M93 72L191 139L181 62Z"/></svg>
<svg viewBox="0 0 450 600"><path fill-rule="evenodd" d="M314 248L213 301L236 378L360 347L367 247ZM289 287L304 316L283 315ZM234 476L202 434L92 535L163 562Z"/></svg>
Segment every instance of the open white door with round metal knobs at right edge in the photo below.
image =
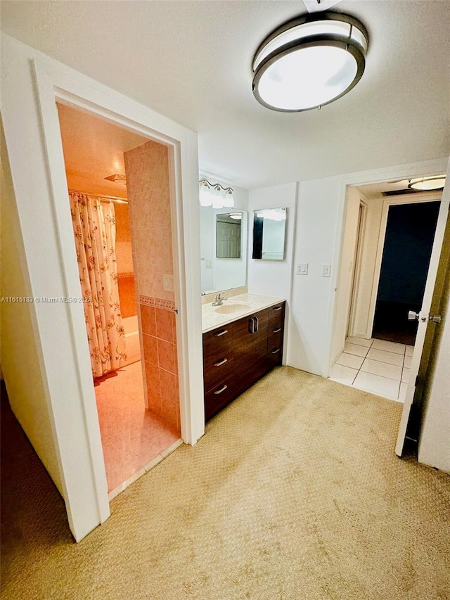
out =
<svg viewBox="0 0 450 600"><path fill-rule="evenodd" d="M439 208L439 215L437 217L437 225L435 232L435 241L433 242L430 267L428 268L427 282L425 283L425 292L423 294L422 307L418 313L418 330L416 336L416 344L414 345L413 358L411 360L411 371L409 374L409 383L406 390L406 397L403 406L403 412L401 414L401 421L399 426L399 434L397 437L397 445L395 447L395 454L401 457L404 449L404 442L406 436L406 428L408 426L409 414L411 412L411 405L413 404L414 391L416 390L416 378L419 372L420 360L422 358L423 345L425 342L425 334L427 332L429 318L430 318L430 307L433 298L433 291L435 289L435 281L437 275L437 267L439 265L439 257L442 251L442 241L444 239L445 227L447 217L449 215L450 205L450 162L447 166L446 185L442 192L441 206ZM431 324L431 326L435 326Z"/></svg>

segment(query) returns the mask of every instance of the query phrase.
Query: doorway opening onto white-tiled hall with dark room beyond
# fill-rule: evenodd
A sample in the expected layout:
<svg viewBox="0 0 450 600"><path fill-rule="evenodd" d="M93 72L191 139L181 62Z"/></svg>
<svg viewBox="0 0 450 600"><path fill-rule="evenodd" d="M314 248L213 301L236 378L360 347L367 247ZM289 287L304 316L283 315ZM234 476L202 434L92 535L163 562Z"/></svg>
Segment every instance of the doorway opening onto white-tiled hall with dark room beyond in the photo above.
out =
<svg viewBox="0 0 450 600"><path fill-rule="evenodd" d="M442 192L347 188L330 378L404 402Z"/></svg>

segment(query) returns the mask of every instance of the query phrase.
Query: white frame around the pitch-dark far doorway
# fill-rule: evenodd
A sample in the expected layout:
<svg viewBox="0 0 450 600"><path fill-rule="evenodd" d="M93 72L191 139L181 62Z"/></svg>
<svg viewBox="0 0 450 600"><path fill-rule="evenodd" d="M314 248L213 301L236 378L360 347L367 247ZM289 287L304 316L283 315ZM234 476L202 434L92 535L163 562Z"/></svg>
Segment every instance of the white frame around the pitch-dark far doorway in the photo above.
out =
<svg viewBox="0 0 450 600"><path fill-rule="evenodd" d="M381 213L380 222L380 234L378 235L377 254L375 259L375 268L373 271L372 280L372 293L371 293L371 304L368 312L366 338L372 337L373 321L375 321L375 309L378 297L378 287L380 286L380 274L381 274L381 262L383 260L383 251L385 250L385 239L386 239L386 228L387 228L387 217L389 216L389 209L391 206L399 206L403 204L418 204L425 202L440 202L442 198L442 191L439 193L429 193L423 196L420 193L414 194L413 198L411 195L397 198L386 198L383 201L383 210Z"/></svg>

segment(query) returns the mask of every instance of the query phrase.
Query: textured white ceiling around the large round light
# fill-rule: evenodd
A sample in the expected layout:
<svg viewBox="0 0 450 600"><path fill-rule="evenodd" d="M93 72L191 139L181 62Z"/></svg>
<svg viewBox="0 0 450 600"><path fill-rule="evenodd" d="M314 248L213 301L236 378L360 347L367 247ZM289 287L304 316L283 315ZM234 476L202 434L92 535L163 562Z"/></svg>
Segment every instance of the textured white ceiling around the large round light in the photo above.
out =
<svg viewBox="0 0 450 600"><path fill-rule="evenodd" d="M252 56L300 1L2 1L1 28L199 134L200 168L252 189L450 153L450 2L343 0L361 82L307 113L252 95Z"/></svg>

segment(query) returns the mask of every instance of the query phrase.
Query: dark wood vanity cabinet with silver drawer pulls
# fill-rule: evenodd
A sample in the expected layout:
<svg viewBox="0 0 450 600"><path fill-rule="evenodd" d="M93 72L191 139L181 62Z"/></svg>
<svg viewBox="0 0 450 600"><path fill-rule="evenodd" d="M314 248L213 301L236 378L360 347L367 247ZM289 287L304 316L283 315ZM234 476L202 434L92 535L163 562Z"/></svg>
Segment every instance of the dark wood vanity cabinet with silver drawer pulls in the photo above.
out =
<svg viewBox="0 0 450 600"><path fill-rule="evenodd" d="M205 419L211 419L283 357L285 302L203 334Z"/></svg>

